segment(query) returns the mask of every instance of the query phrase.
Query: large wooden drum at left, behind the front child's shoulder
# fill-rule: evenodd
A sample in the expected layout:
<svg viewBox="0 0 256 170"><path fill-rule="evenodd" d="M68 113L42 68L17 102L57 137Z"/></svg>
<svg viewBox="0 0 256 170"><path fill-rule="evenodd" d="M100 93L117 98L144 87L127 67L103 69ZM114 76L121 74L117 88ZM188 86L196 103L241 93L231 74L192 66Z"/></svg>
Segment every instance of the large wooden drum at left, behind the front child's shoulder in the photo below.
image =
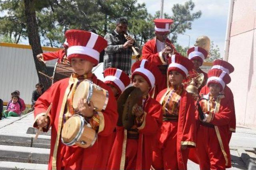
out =
<svg viewBox="0 0 256 170"><path fill-rule="evenodd" d="M68 64L56 63L53 72L52 83L55 83L64 78L68 78L74 73L73 68Z"/></svg>

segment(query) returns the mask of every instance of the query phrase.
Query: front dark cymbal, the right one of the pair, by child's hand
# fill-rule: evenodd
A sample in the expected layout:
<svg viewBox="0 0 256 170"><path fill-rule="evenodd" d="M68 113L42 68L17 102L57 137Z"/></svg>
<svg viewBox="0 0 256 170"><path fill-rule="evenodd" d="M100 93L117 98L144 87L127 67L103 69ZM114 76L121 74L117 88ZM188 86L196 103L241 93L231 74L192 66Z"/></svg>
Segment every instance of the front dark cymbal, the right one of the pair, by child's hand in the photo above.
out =
<svg viewBox="0 0 256 170"><path fill-rule="evenodd" d="M142 96L143 94L140 88L134 88L134 90L132 90L132 92L128 96L128 99L124 104L124 110L122 114L122 124L125 129L129 130L134 125L135 116L132 113L132 107L135 104L142 106Z"/></svg>

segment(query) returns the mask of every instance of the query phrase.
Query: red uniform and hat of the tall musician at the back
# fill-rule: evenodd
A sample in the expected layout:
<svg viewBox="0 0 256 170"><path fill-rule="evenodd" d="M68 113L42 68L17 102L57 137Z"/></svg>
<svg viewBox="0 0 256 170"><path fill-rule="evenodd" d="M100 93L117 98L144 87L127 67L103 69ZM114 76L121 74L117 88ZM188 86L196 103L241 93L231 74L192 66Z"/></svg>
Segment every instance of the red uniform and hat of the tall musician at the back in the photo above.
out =
<svg viewBox="0 0 256 170"><path fill-rule="evenodd" d="M165 45L169 45L173 51L171 53L178 54L172 42L167 38L168 34L170 33L171 24L173 20L168 19L156 19L154 20L155 23L155 33L158 36L163 36L161 41L156 37L151 39L150 41L146 42L142 48L142 59L147 59L151 63L162 66L167 66L168 55L163 55L162 51L166 47ZM162 76L162 83L158 84L155 88L154 96L164 90L167 87L166 81L166 73L163 73Z"/></svg>

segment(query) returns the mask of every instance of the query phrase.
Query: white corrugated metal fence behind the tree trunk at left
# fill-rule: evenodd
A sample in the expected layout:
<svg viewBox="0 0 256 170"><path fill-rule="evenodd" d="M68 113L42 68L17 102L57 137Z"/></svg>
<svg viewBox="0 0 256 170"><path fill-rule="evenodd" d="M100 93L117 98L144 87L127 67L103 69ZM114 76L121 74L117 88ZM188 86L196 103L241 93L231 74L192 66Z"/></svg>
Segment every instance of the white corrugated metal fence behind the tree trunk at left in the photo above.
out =
<svg viewBox="0 0 256 170"><path fill-rule="evenodd" d="M46 52L46 51L44 51ZM54 65L49 61L47 65ZM31 49L0 46L0 98L7 102L11 92L20 91L20 97L31 104L32 92L38 76Z"/></svg>

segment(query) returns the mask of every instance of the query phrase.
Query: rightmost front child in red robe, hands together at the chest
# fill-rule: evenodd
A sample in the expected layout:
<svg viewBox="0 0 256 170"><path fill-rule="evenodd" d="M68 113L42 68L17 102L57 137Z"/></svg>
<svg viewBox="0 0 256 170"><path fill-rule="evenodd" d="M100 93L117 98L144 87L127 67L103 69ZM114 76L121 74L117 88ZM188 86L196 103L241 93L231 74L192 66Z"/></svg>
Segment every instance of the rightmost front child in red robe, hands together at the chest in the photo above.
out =
<svg viewBox="0 0 256 170"><path fill-rule="evenodd" d="M219 69L208 72L209 93L204 95L198 106L196 151L200 170L225 170L231 167L229 123L232 117L230 102L220 92L230 82L230 76Z"/></svg>

